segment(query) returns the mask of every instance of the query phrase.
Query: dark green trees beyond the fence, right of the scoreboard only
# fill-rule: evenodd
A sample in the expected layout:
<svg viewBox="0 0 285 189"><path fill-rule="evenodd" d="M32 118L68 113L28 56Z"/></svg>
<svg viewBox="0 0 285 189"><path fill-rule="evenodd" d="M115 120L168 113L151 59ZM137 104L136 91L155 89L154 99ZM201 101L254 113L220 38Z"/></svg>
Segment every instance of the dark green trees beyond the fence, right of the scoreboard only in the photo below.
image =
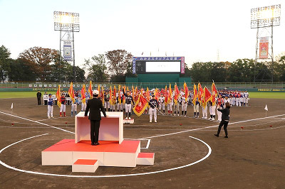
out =
<svg viewBox="0 0 285 189"><path fill-rule="evenodd" d="M233 63L193 63L187 68L192 82L254 82L271 80L271 63L254 64L253 59L238 59ZM274 62L274 82L285 82L285 55L279 55Z"/></svg>

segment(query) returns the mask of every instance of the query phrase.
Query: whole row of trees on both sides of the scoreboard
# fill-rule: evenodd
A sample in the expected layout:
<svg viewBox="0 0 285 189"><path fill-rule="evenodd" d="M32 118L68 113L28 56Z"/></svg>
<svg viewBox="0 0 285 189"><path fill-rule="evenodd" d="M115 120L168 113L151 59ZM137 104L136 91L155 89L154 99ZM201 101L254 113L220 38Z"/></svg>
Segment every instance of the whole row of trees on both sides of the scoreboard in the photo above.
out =
<svg viewBox="0 0 285 189"><path fill-rule="evenodd" d="M133 55L127 50L110 50L84 60L83 68L76 66L76 80L73 65L61 58L59 51L51 48L33 47L24 50L18 58L4 45L0 47L1 82L125 82L125 77L137 77L132 72ZM86 75L86 71L88 74ZM254 64L252 59L238 59L229 62L197 62L180 77L191 77L192 82L254 82L271 80L271 65ZM274 82L285 82L285 55L279 55L274 62Z"/></svg>

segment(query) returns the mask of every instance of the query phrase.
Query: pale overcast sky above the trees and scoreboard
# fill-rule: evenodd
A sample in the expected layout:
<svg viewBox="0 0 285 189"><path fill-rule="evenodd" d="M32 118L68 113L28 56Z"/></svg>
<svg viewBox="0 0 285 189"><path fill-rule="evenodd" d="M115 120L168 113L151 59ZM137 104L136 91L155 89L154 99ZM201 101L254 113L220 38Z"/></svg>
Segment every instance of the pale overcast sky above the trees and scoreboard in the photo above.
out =
<svg viewBox="0 0 285 189"><path fill-rule="evenodd" d="M250 9L284 0L239 1L15 1L0 0L0 45L17 58L40 46L59 48L53 11L80 13L75 33L76 65L108 50L125 49L134 56L185 56L185 63L254 58L257 29L250 28ZM282 7L283 6L283 7ZM285 51L285 8L274 27L274 56ZM159 50L159 51L158 51Z"/></svg>

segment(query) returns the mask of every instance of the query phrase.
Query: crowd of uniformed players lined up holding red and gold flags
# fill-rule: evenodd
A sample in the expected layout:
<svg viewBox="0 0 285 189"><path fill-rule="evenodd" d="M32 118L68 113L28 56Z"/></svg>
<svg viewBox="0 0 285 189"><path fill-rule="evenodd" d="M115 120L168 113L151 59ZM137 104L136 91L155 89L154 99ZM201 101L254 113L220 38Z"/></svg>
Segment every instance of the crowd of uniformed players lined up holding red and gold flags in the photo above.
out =
<svg viewBox="0 0 285 189"><path fill-rule="evenodd" d="M133 90L128 90L128 87L127 89L125 87L120 89L119 87L118 91L115 90L114 86L114 90L112 87L110 87L110 90L102 89L99 96L103 101L105 111L124 112L125 119L130 119L131 114L137 113L133 111L133 107L135 107L135 104L139 103L138 98L141 95L147 100L147 106L143 109L142 114L150 114L150 121L152 121L152 117L154 117L155 122L157 121L157 110L159 110L161 114L165 114L167 111L167 115L186 117L187 105L192 105L194 107L194 117L199 117L199 106L202 106L202 119L207 119L207 109L209 107L209 119L214 120L217 112L219 121L220 116L222 115L219 116L217 109L224 108L224 104L226 102L229 102L232 106L247 106L249 100L249 94L247 91L217 91L215 85L213 89L213 85L212 90L214 90L214 92L209 92L211 97L205 97L206 95L204 94L204 91L207 87L205 87L204 90L201 90L200 85L198 85L198 91L196 87L193 87L194 90L188 90L187 85L180 90L177 85L175 85L175 89L173 91L171 89L171 85L168 89L165 87L165 89L162 90L148 90L148 87L146 90L138 90L137 87L135 87L135 89L133 87ZM58 107L60 107L60 117L66 117L66 104L68 104L66 97L70 97L70 95L69 92L61 92L60 94L61 97L58 104ZM74 91L73 94L73 100L71 101L71 117L77 114L78 105L81 105L81 111L85 111L88 99L90 97L92 98L92 94L90 95L86 90ZM48 97L48 118L53 118L53 100L54 99L50 94ZM172 114L172 112L174 114Z"/></svg>

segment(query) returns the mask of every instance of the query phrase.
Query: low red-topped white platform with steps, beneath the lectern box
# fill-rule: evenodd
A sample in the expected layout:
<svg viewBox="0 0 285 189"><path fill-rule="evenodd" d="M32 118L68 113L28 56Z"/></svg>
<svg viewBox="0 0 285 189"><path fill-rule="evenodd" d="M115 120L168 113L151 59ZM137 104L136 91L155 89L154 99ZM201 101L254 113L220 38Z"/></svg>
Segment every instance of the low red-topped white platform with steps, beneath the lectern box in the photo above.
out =
<svg viewBox="0 0 285 189"><path fill-rule="evenodd" d="M93 169L92 165L82 163L85 160L96 161L98 166L115 167L135 167L154 163L154 153L140 153L140 141L123 140L121 144L118 141L99 143L98 146L91 146L90 141L75 143L74 139L63 139L41 152L41 163L43 166L81 167L75 170L83 170L83 165L90 166L90 169L86 168L87 172ZM78 160L81 160L81 164L78 164Z"/></svg>

